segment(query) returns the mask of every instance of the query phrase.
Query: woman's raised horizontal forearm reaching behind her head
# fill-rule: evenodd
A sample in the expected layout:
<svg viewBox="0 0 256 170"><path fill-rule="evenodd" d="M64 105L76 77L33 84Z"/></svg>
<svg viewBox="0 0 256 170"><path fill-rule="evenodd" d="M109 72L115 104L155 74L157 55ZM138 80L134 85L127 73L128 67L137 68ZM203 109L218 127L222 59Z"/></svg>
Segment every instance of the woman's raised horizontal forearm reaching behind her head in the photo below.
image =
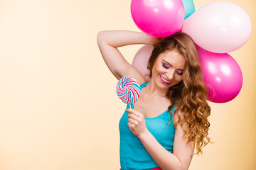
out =
<svg viewBox="0 0 256 170"><path fill-rule="evenodd" d="M124 45L133 44L153 44L159 39L146 35L146 33L140 33L129 30L107 30L100 31L98 33L97 41L105 41L112 47L122 47Z"/></svg>

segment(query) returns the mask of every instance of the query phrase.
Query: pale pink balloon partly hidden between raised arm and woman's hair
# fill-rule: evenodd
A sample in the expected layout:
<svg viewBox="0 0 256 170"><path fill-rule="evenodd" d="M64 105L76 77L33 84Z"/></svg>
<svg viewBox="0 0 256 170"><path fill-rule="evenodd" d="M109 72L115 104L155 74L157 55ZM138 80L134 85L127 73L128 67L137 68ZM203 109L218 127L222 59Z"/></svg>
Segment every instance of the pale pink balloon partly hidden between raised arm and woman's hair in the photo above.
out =
<svg viewBox="0 0 256 170"><path fill-rule="evenodd" d="M149 69L147 69L147 64L149 62L149 57L153 50L152 45L144 45L142 46L139 51L136 53L134 59L132 60L132 65L142 73L145 77L146 81L150 80L149 76Z"/></svg>

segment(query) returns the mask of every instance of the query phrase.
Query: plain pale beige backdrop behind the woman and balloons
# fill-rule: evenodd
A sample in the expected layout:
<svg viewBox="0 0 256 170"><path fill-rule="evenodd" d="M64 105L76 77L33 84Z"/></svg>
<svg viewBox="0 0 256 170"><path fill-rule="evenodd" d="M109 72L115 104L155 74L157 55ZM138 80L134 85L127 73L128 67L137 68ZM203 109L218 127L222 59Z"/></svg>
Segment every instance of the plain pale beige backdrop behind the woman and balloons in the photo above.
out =
<svg viewBox="0 0 256 170"><path fill-rule="evenodd" d="M196 8L212 0L194 0ZM252 34L231 52L243 86L233 101L210 103L213 144L191 168L256 169L255 0ZM138 30L130 0L0 0L0 169L119 169L124 103L97 47L100 30ZM122 47L132 62L141 45Z"/></svg>

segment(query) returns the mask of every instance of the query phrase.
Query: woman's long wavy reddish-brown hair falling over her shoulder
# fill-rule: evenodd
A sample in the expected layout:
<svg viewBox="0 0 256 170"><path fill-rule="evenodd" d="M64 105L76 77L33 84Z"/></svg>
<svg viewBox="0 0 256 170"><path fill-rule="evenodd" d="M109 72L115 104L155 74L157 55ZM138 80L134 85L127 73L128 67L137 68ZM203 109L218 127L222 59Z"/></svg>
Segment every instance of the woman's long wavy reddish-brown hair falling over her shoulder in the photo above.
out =
<svg viewBox="0 0 256 170"><path fill-rule="evenodd" d="M172 50L176 50L185 57L185 65L182 81L171 86L166 94L166 97L171 101L171 106L168 109L171 113L171 109L176 104L174 113L182 114L182 118L181 115L174 114L174 116L178 116L176 124L181 123L181 127L186 125L187 129L184 130L185 135L183 137L196 143L195 154L199 154L202 153L202 148L210 142L208 137L210 106L206 101L208 91L203 80L201 62L196 46L189 35L175 33L154 44L154 50L147 66L150 70L149 77L152 77L152 68L156 58L162 52Z"/></svg>

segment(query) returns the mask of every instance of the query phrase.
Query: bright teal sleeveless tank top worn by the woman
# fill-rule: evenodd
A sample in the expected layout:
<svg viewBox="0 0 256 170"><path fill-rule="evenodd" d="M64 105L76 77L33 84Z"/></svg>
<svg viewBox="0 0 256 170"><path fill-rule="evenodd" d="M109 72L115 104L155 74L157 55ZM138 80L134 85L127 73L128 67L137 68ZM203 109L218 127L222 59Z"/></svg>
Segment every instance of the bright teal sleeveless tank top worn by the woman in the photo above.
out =
<svg viewBox="0 0 256 170"><path fill-rule="evenodd" d="M146 82L140 86L142 89L144 86L149 84ZM133 104L131 105L133 108ZM127 108L129 105L127 105ZM172 108L171 113L173 114L174 108ZM173 152L174 146L174 116L171 118L171 113L164 111L160 115L154 118L145 118L146 128L151 132L151 134L156 138L156 140L167 149L169 152ZM146 151L142 142L133 135L131 130L127 125L128 115L127 111L124 111L122 118L119 121L119 132L120 132L120 164L122 170L132 170L132 169L153 169L158 167L154 159L151 158L149 153ZM171 123L169 124L169 120ZM168 125L169 124L169 125Z"/></svg>

